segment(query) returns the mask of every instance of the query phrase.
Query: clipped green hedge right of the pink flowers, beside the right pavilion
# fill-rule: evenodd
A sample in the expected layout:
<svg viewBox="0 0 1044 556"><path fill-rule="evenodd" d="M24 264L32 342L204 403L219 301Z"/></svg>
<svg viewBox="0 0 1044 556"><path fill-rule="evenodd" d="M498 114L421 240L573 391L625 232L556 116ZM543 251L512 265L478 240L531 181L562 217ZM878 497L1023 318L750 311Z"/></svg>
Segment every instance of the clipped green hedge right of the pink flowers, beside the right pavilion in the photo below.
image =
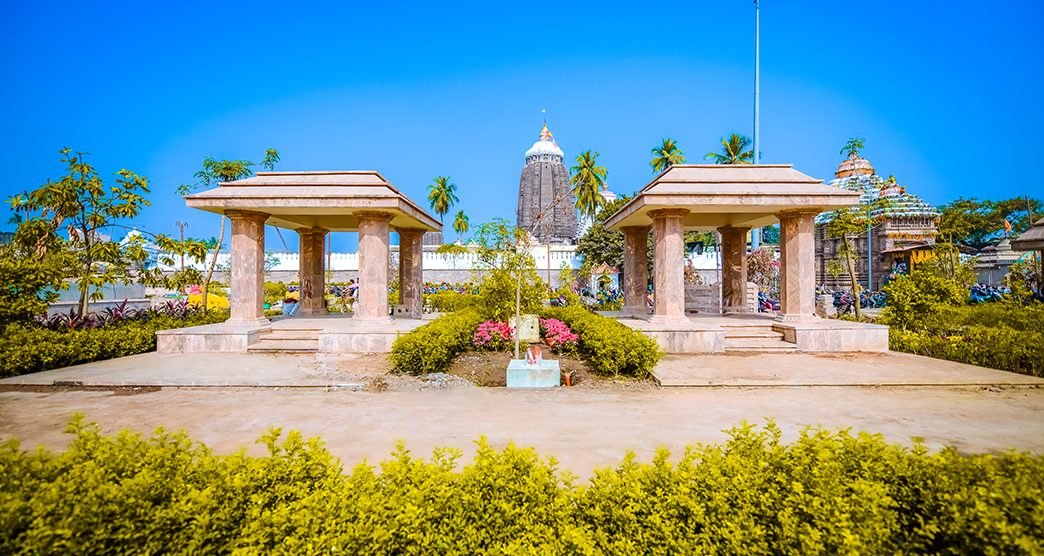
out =
<svg viewBox="0 0 1044 556"><path fill-rule="evenodd" d="M579 335L579 352L600 374L648 377L663 353L656 341L614 318L582 307L545 309L541 315L556 318Z"/></svg>

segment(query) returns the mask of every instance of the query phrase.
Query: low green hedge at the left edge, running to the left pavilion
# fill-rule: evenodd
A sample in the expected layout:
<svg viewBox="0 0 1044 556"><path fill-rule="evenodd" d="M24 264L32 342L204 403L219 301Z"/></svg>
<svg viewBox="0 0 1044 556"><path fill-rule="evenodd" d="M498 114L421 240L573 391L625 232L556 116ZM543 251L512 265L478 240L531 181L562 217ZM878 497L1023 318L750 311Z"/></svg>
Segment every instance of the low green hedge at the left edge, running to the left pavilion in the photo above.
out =
<svg viewBox="0 0 1044 556"><path fill-rule="evenodd" d="M156 331L219 322L228 313L209 312L179 319L159 316L99 329L47 330L9 324L0 334L0 377L17 377L52 368L133 356L156 349Z"/></svg>

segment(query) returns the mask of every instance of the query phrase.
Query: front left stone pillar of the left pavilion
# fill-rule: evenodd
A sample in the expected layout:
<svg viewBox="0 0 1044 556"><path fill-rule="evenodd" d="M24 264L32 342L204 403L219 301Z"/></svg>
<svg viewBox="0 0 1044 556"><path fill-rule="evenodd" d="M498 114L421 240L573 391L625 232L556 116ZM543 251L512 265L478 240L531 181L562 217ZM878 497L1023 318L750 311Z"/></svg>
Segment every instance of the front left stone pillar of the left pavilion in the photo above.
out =
<svg viewBox="0 0 1044 556"><path fill-rule="evenodd" d="M268 215L228 211L232 220L232 283L229 324L267 324L264 316L264 222Z"/></svg>

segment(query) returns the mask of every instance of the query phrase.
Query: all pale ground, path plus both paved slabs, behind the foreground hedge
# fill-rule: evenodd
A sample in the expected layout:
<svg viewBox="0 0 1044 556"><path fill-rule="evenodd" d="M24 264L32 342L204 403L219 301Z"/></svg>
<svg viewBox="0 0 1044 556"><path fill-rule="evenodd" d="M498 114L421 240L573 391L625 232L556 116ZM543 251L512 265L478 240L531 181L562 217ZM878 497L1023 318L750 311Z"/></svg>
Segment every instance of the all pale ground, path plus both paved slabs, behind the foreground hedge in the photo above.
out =
<svg viewBox="0 0 1044 556"><path fill-rule="evenodd" d="M668 358L665 364L708 372L732 368L731 376L720 379L732 381L731 387L621 385L518 391L461 387L453 381L438 384L447 388L432 389L431 383L385 378L382 358L374 356L150 354L0 381L0 437L63 449L68 442L64 426L79 411L105 431L185 429L221 453L240 446L260 453L254 440L266 428L279 426L321 435L336 456L352 464L384 458L398 439L426 455L442 445L467 451L472 440L485 435L498 445L508 441L533 445L563 466L587 475L596 466L616 464L626 450L647 459L658 446L678 452L686 444L721 441L723 429L743 419L772 417L787 438L805 426L822 425L877 432L900 442L923 438L930 446L954 445L966 452L1012 448L1044 452L1044 388L1025 385L1033 381L1023 377L911 356L729 357ZM729 365L721 367L722 363ZM753 368L770 369L769 378L804 377L808 383L822 381L825 369L833 368L868 379L865 384L887 382L871 380L874 372L894 377L891 380L912 374L916 380L907 384L922 384L924 377L950 369L951 379L963 377L967 384L977 384L988 378L994 386L807 387L775 379L765 384L772 388L742 386ZM385 380L389 391L343 387L369 384L372 390L374 381ZM55 381L144 387L90 390L30 384ZM169 387L193 381L208 386ZM1024 385L1004 386L1005 381ZM328 387L332 385L341 387Z"/></svg>

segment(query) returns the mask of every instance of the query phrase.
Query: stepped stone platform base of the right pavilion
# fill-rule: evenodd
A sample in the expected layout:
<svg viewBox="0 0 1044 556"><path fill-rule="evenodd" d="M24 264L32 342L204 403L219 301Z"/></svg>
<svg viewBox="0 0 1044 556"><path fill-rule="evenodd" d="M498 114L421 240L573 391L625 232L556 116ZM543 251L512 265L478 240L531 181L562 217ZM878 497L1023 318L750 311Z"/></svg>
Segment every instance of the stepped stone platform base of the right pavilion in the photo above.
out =
<svg viewBox="0 0 1044 556"><path fill-rule="evenodd" d="M667 354L850 353L888 350L888 328L809 317L781 321L772 314L695 314L670 322L618 317Z"/></svg>

